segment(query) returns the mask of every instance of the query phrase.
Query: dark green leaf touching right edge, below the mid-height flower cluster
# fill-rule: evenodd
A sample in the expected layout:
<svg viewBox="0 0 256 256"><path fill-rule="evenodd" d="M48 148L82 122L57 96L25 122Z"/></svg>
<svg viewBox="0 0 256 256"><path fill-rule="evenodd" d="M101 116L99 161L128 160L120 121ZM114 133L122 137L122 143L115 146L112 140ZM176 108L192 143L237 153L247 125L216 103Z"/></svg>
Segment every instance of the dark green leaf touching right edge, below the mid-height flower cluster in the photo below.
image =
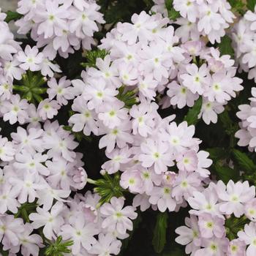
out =
<svg viewBox="0 0 256 256"><path fill-rule="evenodd" d="M256 165L245 153L237 149L233 149L232 154L235 162L239 165L239 167L241 167L241 170L248 173L255 173Z"/></svg>

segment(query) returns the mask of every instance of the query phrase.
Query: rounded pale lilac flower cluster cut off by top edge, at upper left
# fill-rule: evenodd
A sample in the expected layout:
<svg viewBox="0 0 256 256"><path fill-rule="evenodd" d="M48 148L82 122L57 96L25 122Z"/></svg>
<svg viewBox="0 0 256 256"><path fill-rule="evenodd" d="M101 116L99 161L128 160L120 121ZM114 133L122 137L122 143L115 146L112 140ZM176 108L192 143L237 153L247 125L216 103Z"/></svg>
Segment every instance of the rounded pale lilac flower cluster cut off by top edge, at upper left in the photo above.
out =
<svg viewBox="0 0 256 256"><path fill-rule="evenodd" d="M50 60L79 50L81 45L90 50L93 35L99 31L97 23L105 23L96 1L43 0L18 2L18 12L23 18L16 21L19 34L31 31L31 38Z"/></svg>

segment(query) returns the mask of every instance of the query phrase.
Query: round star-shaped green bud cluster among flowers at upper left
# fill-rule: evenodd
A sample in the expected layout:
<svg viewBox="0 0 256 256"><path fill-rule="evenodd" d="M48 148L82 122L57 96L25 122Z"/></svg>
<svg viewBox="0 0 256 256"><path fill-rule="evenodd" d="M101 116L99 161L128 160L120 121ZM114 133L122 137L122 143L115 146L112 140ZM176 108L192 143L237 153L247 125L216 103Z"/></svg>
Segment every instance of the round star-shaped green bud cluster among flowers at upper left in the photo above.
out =
<svg viewBox="0 0 256 256"><path fill-rule="evenodd" d="M29 70L22 75L22 80L17 81L18 85L14 85L13 89L21 98L36 104L43 100L42 95L47 91L46 81L41 72Z"/></svg>

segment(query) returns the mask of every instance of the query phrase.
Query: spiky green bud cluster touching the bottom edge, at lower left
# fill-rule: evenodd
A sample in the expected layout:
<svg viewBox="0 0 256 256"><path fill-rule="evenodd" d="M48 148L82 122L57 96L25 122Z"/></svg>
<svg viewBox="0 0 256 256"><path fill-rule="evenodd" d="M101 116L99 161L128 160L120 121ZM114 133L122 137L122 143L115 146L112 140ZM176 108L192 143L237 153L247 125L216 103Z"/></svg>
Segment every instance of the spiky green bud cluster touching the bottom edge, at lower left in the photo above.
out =
<svg viewBox="0 0 256 256"><path fill-rule="evenodd" d="M74 244L71 240L63 242L61 236L58 236L54 242L48 239L46 241L48 243L48 247L45 249L45 256L64 256L64 253L71 252L71 249L68 247Z"/></svg>

